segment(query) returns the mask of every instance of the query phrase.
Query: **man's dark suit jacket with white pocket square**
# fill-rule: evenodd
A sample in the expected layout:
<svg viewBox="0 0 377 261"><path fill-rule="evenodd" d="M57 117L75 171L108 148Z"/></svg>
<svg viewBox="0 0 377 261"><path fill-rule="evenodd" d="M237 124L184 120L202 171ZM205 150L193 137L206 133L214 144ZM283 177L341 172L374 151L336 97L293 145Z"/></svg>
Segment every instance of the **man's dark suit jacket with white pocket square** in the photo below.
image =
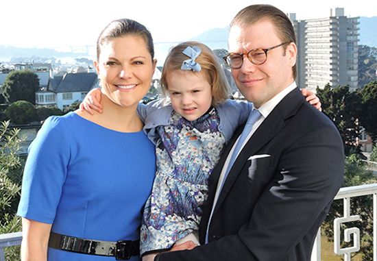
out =
<svg viewBox="0 0 377 261"><path fill-rule="evenodd" d="M242 129L210 177L199 229L202 244L221 169ZM260 154L269 157L248 160ZM158 260L310 260L343 170L337 128L296 88L256 129L234 162L210 222L209 243L164 253Z"/></svg>

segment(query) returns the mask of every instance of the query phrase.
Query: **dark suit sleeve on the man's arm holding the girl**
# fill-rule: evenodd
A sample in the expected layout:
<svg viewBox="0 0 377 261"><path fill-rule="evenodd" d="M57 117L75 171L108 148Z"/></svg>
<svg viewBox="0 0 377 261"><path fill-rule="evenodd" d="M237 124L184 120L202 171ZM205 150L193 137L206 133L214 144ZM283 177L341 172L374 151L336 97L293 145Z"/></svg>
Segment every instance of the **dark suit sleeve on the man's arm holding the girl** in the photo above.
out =
<svg viewBox="0 0 377 261"><path fill-rule="evenodd" d="M282 260L308 233L316 233L343 182L339 133L332 125L313 129L277 156L273 179L237 234L191 251L164 253L158 261Z"/></svg>

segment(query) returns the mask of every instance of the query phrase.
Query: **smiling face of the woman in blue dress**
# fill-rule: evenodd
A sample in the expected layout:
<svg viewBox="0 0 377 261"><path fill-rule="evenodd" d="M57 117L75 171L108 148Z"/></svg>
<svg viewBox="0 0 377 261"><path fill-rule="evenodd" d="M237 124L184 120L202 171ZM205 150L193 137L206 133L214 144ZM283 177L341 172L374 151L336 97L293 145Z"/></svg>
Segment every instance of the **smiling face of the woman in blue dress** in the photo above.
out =
<svg viewBox="0 0 377 261"><path fill-rule="evenodd" d="M95 67L101 91L116 105L136 108L151 86L156 60L141 36L128 35L105 42Z"/></svg>

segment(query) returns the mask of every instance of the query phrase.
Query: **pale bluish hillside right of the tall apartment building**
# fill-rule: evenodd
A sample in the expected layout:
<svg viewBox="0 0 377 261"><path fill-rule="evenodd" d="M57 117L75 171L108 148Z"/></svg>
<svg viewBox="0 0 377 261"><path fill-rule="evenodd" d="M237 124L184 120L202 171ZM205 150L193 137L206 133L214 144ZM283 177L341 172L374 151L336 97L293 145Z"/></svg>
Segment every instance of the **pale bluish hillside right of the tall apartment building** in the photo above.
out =
<svg viewBox="0 0 377 261"><path fill-rule="evenodd" d="M359 45L377 47L377 16L360 17L360 42Z"/></svg>

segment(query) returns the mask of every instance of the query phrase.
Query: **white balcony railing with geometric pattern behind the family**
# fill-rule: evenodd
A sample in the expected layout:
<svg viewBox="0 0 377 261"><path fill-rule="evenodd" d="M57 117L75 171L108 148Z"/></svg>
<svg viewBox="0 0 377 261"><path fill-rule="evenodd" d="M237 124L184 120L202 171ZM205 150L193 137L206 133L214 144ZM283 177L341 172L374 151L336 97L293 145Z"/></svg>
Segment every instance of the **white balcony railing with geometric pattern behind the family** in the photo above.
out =
<svg viewBox="0 0 377 261"><path fill-rule="evenodd" d="M352 247L341 247L341 224L360 220L360 216L351 212L350 199L373 195L373 260L377 261L377 184L341 188L335 200L343 199L343 216L334 220L334 252L343 256L344 261L350 261L351 255L360 249L360 229L350 227L344 229L344 240L353 242ZM5 247L21 245L21 232L0 235L0 261L4 261ZM321 261L321 229L315 239L311 261Z"/></svg>

